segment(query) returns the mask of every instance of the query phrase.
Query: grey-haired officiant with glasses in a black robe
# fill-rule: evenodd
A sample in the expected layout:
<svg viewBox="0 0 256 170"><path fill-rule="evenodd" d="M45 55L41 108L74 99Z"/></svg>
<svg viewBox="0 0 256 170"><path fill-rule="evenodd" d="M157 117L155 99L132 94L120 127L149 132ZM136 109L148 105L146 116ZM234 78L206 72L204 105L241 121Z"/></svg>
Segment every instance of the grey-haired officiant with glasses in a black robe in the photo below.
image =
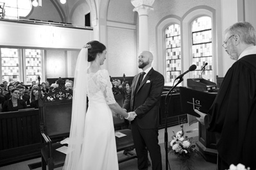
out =
<svg viewBox="0 0 256 170"><path fill-rule="evenodd" d="M256 38L248 22L225 31L223 47L235 63L226 73L214 104L200 121L216 132L218 167L239 163L256 168Z"/></svg>

